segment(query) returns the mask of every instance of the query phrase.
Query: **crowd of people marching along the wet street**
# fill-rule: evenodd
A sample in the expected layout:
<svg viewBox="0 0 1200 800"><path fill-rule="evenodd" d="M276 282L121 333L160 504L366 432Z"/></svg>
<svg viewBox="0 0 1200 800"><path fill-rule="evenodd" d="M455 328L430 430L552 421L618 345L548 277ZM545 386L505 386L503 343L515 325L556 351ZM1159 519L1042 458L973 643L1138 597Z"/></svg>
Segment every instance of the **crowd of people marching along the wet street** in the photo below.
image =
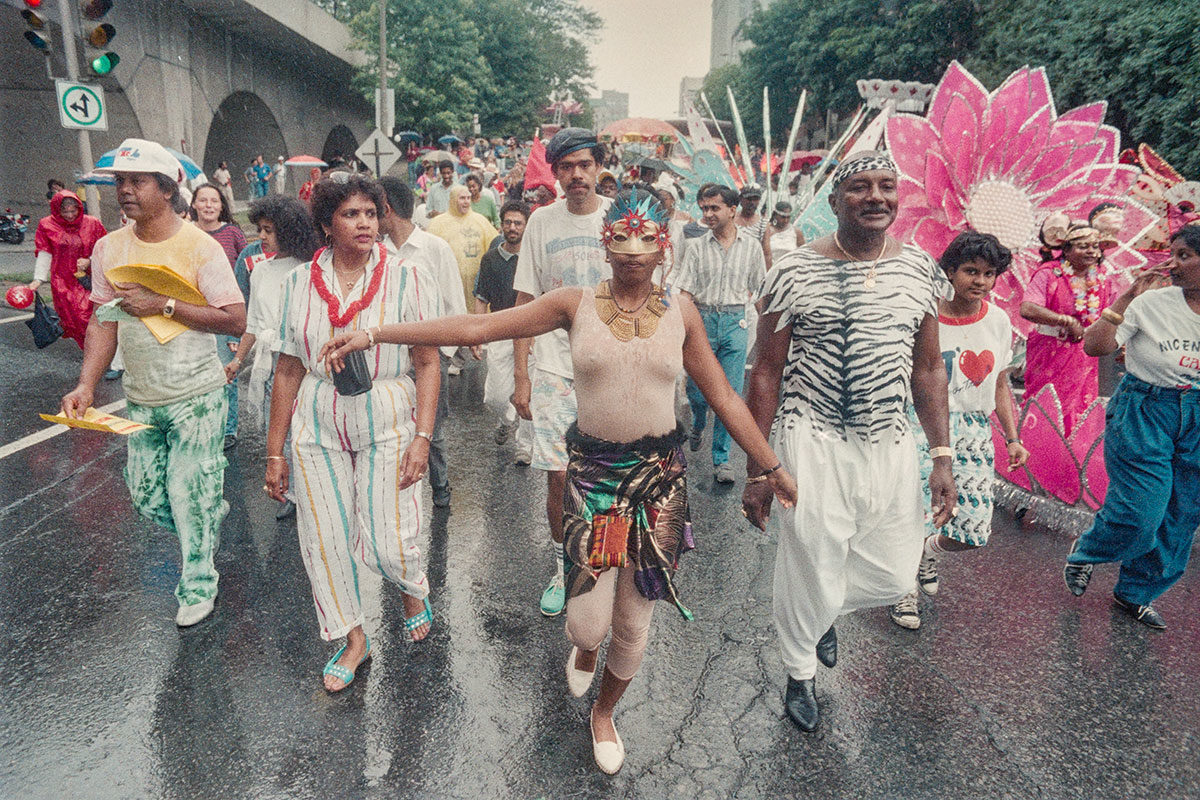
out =
<svg viewBox="0 0 1200 800"><path fill-rule="evenodd" d="M688 483L738 480L731 438L746 455L742 512L778 542L784 708L815 730L838 618L883 606L919 627L938 559L988 542L991 414L1010 469L1037 457L1014 419L1013 327L989 301L1012 253L967 230L935 260L889 236L886 152L841 161L836 229L804 243L792 227L811 197L803 181L770 209L757 185L707 184L689 198L692 219L672 181L608 170L592 131L535 142L528 161L502 145L464 144L407 182L317 173L304 200L254 199L250 243L228 170L185 221L184 173L152 142L127 140L107 169L128 225L106 234L78 198L54 196L35 283L49 278L55 303L77 309L84 349L62 408L91 405L120 349L127 415L154 426L128 437L126 482L137 511L179 536L176 622L214 609L240 408L265 426L263 491L281 518L296 516L318 634L341 643L325 688L346 690L372 655L364 569L400 589L408 636L425 638L437 602L416 535L421 483L434 506L451 504L446 385L486 344L496 441L515 439L515 462L546 475L551 577L538 602L547 616L565 609L572 696L589 691L610 639L589 715L598 766L624 762L613 710L654 601L692 616L677 571L706 531ZM1097 356L1123 348L1128 372L1108 409L1108 499L1073 543L1066 583L1082 594L1094 564L1120 561L1116 603L1162 628L1152 602L1182 576L1200 525L1200 227L1171 240L1171 285L1147 272L1122 294L1088 222L1048 219L1043 242L1021 306L1036 325L1026 395L1052 385L1074 420L1097 396ZM109 279L125 264L167 265L203 302ZM130 319L90 314L114 300ZM158 317L182 330L160 342L142 321ZM712 473L689 469L684 451L703 446L709 410Z"/></svg>

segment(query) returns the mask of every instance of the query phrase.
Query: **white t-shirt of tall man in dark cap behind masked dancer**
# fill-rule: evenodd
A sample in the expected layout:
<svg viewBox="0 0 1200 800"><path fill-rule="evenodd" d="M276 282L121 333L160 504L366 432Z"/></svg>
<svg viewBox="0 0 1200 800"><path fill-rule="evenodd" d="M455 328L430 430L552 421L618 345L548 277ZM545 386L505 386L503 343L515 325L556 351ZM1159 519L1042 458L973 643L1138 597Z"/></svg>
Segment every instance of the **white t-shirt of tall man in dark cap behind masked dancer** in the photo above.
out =
<svg viewBox="0 0 1200 800"><path fill-rule="evenodd" d="M529 215L521 260L517 261L512 288L540 297L562 287L594 287L612 277L600 243L604 215L612 200L600 197L592 213L571 213L566 200L556 200ZM571 342L566 331L551 331L534 339L533 355L538 368L571 378Z"/></svg>

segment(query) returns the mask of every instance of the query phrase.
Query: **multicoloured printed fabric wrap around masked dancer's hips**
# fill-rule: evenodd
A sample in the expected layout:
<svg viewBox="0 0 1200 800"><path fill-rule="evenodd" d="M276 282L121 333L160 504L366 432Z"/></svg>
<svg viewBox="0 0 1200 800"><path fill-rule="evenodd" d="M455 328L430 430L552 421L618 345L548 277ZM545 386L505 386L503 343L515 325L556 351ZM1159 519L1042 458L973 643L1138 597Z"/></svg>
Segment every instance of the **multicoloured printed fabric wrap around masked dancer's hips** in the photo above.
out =
<svg viewBox="0 0 1200 800"><path fill-rule="evenodd" d="M679 557L696 547L683 441L683 428L629 444L589 437L575 425L566 432L563 534L572 561L570 597L590 591L604 572L588 566L592 518L620 515L630 523L628 563L637 590L647 600L671 600L684 619L692 619L674 585Z"/></svg>

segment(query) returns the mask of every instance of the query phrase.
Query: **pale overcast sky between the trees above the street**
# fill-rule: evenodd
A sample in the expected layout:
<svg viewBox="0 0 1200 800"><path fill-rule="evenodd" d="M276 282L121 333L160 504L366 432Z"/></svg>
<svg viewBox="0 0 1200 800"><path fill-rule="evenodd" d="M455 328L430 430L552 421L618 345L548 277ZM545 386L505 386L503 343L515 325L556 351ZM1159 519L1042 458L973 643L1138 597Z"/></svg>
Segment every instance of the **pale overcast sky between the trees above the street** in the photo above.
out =
<svg viewBox="0 0 1200 800"><path fill-rule="evenodd" d="M604 19L592 44L596 94L629 92L630 116L676 116L679 79L708 73L712 0L581 0Z"/></svg>

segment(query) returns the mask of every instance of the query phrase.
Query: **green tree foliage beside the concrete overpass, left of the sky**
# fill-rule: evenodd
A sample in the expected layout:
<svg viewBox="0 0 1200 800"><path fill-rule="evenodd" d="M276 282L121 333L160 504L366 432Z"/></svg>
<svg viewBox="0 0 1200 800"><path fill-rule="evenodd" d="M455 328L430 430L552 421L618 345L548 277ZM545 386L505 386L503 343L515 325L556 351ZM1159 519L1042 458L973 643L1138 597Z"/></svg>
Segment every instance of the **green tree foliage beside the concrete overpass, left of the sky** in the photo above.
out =
<svg viewBox="0 0 1200 800"><path fill-rule="evenodd" d="M370 56L358 77L370 96L378 82L379 6L340 0L337 14ZM388 84L396 90L396 125L464 133L479 114L485 132L529 136L552 90L587 95L584 41L599 28L599 17L576 0L391 0Z"/></svg>

